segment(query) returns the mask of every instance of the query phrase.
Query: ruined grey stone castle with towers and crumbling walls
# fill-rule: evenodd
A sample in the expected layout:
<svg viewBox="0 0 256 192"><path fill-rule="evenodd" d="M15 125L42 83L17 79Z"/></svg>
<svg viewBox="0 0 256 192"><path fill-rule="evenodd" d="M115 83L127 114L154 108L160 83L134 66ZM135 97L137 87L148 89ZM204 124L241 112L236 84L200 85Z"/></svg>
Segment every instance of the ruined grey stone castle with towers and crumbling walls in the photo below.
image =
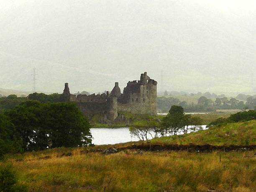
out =
<svg viewBox="0 0 256 192"><path fill-rule="evenodd" d="M103 114L108 120L115 120L118 112L156 115L156 84L157 82L144 72L140 80L129 81L123 93L118 82L115 82L115 87L110 93L76 96L70 94L68 83L65 83L61 100L77 102L78 108L88 118Z"/></svg>

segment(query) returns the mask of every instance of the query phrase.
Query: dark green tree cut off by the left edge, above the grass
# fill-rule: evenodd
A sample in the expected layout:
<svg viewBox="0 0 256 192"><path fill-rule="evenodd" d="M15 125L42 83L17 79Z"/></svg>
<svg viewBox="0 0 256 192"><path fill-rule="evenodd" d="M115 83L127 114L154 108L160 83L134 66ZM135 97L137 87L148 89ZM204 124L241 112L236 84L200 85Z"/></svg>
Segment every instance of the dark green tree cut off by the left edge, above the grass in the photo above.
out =
<svg viewBox="0 0 256 192"><path fill-rule="evenodd" d="M0 160L4 154L22 152L21 137L7 116L0 114Z"/></svg>

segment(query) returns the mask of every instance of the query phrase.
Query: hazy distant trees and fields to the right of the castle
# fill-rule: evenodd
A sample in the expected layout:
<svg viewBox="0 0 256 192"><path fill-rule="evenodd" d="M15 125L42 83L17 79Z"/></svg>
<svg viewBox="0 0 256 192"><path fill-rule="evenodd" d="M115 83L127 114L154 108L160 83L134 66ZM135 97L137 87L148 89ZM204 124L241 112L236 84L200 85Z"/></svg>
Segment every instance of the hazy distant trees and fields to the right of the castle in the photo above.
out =
<svg viewBox="0 0 256 192"><path fill-rule="evenodd" d="M221 97L212 100L205 96L201 96L196 104L194 102L187 103L186 101L180 101L178 98L174 97L157 97L159 111L167 112L172 105L182 106L185 112L206 112L217 109L255 109L256 97L249 96L246 99L246 102L244 102L236 98L228 99L228 97Z"/></svg>

